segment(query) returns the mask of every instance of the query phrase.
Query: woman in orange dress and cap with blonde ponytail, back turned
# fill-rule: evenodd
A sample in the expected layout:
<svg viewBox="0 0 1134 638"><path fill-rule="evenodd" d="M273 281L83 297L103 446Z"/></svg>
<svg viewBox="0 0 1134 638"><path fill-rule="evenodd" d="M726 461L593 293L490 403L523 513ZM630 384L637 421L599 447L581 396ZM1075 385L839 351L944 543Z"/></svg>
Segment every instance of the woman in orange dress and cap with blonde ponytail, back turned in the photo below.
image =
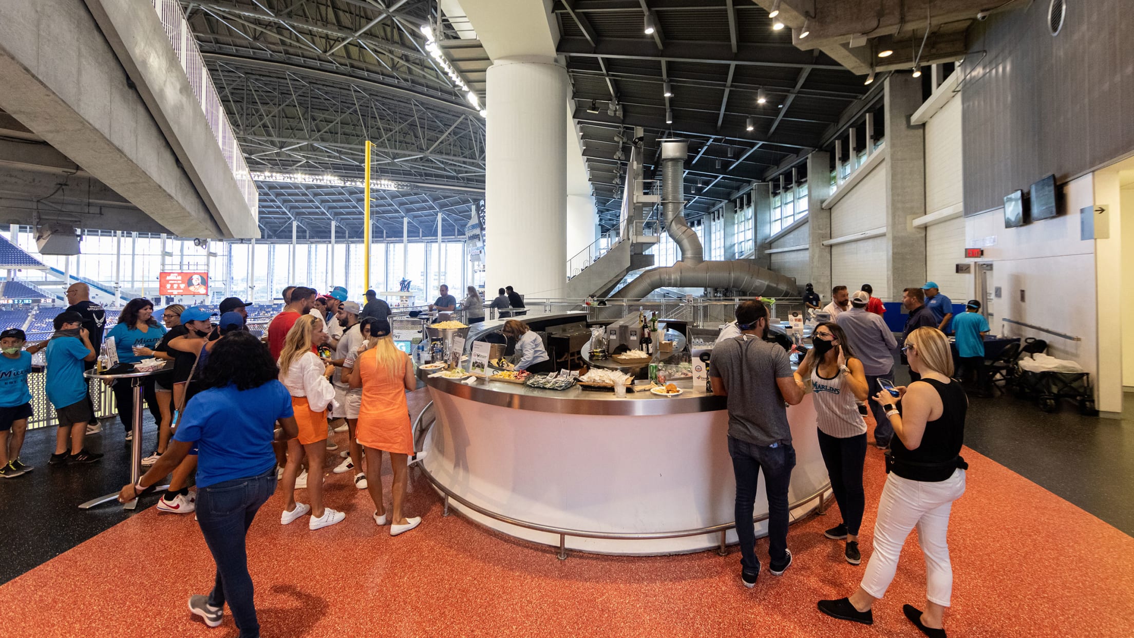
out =
<svg viewBox="0 0 1134 638"><path fill-rule="evenodd" d="M393 345L389 321L371 324L369 343L373 345L358 354L350 372L350 387L362 388L355 434L358 444L366 451L366 489L374 501L374 522L379 526L391 522L390 536L397 536L422 522L421 517L407 519L401 512L406 500L406 464L414 453L406 392L417 387L417 379L409 356ZM390 454L390 467L393 468L393 485L390 488L393 495L392 520L386 515L382 498L383 451Z"/></svg>

